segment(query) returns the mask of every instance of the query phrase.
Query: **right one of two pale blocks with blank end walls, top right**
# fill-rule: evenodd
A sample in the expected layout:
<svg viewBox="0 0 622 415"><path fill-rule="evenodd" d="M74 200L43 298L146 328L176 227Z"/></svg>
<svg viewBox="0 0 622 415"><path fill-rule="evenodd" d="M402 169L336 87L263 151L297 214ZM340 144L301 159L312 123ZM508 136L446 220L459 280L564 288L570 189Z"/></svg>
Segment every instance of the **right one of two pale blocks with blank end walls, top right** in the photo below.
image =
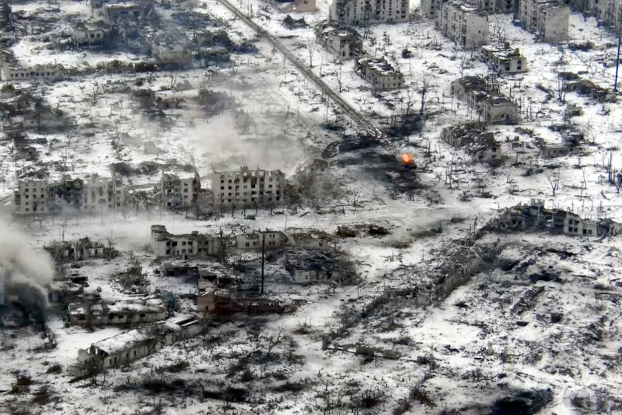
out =
<svg viewBox="0 0 622 415"><path fill-rule="evenodd" d="M544 42L568 40L570 8L562 0L519 0L518 21Z"/></svg>

